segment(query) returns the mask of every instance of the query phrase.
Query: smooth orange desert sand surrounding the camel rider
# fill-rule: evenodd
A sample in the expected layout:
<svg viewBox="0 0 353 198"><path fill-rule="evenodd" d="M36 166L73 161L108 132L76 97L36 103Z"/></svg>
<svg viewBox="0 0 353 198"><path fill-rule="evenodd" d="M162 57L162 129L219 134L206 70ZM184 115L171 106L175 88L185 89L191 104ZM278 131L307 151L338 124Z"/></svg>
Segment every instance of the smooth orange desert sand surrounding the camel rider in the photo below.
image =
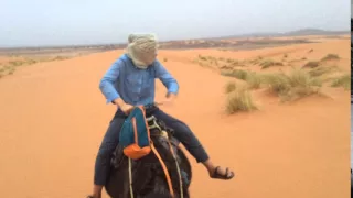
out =
<svg viewBox="0 0 353 198"><path fill-rule="evenodd" d="M224 85L228 78L191 62L199 54L302 57L311 48L310 58L334 52L342 57L336 64L349 69L349 41L343 40L244 52L160 52L181 86L174 106L163 109L189 123L216 163L236 172L231 182L212 180L191 158L192 197L349 197L349 91L325 88L330 98L282 105L258 90L254 96L260 111L227 116ZM115 111L105 103L98 82L121 53L39 63L0 79L3 197L76 198L90 193L95 155ZM164 91L159 82L157 99Z"/></svg>

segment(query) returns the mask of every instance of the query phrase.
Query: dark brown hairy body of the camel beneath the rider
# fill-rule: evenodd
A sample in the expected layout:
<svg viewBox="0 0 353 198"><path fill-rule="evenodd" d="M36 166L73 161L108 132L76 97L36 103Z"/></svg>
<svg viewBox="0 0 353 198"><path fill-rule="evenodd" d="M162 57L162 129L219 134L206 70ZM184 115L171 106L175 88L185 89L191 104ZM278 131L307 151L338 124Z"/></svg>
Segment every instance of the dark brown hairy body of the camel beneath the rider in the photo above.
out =
<svg viewBox="0 0 353 198"><path fill-rule="evenodd" d="M189 186L192 178L191 164L179 147L180 142L173 136L173 130L165 127L165 124L157 120L158 124L168 132L169 140L172 143L174 153L182 172L183 197L190 198ZM148 123L149 125L151 122ZM180 182L175 161L170 152L168 139L162 136L161 131L152 129L150 131L151 140L156 150L160 153L172 180L174 198L180 197ZM168 183L164 172L153 152L147 156L132 161L132 187L133 198L172 198L169 191ZM105 186L107 194L111 198L130 198L128 158L122 154L122 147L117 146L113 154L110 175Z"/></svg>

